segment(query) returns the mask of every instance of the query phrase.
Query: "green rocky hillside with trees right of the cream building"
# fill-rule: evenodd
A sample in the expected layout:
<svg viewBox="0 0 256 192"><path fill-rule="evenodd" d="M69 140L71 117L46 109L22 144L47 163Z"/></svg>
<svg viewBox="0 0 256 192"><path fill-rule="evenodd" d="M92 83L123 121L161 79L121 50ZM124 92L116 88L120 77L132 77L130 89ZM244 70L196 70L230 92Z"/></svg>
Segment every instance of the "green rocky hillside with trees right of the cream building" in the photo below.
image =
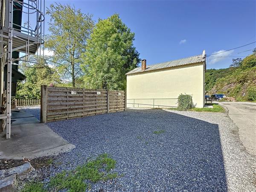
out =
<svg viewBox="0 0 256 192"><path fill-rule="evenodd" d="M227 69L209 69L205 74L208 95L223 93L237 101L256 101L256 49L244 59L233 59Z"/></svg>

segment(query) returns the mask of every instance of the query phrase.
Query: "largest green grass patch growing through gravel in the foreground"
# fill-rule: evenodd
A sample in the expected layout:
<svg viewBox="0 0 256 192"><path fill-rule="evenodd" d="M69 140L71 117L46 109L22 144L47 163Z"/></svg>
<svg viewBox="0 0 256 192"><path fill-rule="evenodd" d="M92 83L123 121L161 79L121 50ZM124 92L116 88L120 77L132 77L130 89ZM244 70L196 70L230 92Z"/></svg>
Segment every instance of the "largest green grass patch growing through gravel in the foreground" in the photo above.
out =
<svg viewBox="0 0 256 192"><path fill-rule="evenodd" d="M90 188L90 184L85 181L96 183L100 180L112 180L118 177L117 173L112 173L116 166L116 161L108 154L101 154L95 159L90 159L82 166L78 166L73 171L63 171L56 174L49 181L47 189L49 191L67 190L69 192L84 192ZM39 185L40 184L40 185ZM35 190L31 184L28 184L22 192L45 192L42 183L37 183L38 190ZM41 188L39 188L41 187Z"/></svg>

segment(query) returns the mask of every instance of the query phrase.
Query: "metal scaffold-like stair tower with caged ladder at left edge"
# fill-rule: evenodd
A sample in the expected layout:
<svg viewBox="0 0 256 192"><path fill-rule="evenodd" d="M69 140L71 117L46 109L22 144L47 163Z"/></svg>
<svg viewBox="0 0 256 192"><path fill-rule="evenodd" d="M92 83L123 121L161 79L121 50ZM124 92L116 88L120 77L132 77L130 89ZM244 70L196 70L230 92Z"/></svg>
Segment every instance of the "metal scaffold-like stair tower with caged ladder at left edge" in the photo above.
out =
<svg viewBox="0 0 256 192"><path fill-rule="evenodd" d="M44 67L44 0L0 0L0 59L6 70L6 138L11 136L12 66ZM23 23L23 24L22 24ZM15 52L15 57L13 53ZM33 55L33 56L31 56ZM2 70L2 69L1 69Z"/></svg>

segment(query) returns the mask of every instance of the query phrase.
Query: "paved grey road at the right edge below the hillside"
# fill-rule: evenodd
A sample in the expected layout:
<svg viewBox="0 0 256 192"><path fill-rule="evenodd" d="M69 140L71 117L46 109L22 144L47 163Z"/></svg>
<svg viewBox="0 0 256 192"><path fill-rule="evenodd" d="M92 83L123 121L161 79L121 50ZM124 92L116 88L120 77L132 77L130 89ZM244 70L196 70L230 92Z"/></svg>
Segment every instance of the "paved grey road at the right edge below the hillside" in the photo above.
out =
<svg viewBox="0 0 256 192"><path fill-rule="evenodd" d="M239 127L239 138L250 154L256 155L256 103L220 102Z"/></svg>

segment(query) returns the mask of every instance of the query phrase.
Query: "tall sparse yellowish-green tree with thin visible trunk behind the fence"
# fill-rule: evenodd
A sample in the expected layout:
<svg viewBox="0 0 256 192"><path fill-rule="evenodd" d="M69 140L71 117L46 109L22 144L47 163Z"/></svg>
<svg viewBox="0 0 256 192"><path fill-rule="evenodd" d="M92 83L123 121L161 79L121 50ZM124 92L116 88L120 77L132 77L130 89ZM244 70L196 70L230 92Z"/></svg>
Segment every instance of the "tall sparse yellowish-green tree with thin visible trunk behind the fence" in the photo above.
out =
<svg viewBox="0 0 256 192"><path fill-rule="evenodd" d="M52 62L62 73L63 79L71 79L75 87L81 76L81 54L85 52L87 39L94 26L92 15L83 14L69 5L51 4L49 32L45 46L54 52Z"/></svg>

